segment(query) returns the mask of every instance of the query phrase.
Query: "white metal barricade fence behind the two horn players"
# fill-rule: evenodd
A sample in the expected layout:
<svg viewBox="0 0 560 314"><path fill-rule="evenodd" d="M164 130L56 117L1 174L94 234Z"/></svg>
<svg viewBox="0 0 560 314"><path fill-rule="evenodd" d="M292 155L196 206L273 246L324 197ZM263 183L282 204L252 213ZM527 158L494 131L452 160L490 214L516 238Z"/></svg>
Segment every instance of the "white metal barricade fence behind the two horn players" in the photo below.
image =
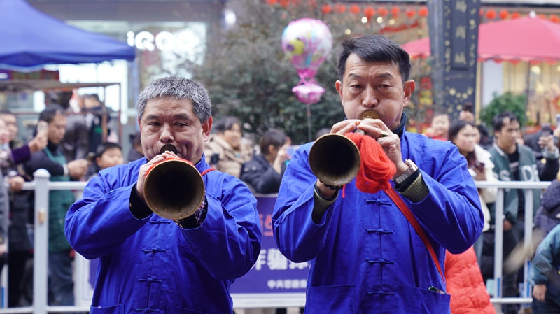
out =
<svg viewBox="0 0 560 314"><path fill-rule="evenodd" d="M3 313L62 313L62 312L89 312L90 306L48 306L48 201L50 190L73 190L77 197L83 193L86 182L50 182L50 174L45 169L38 169L34 173L34 180L25 183L23 190L35 191L34 206L34 260L33 260L33 305L20 308L0 308ZM504 189L526 189L525 192L525 249L529 250L532 245L531 236L533 229L533 190L546 189L549 182L522 182L512 181L497 183L477 182L477 187L498 187L496 197L496 244L494 252L494 297L493 304L505 303L531 303L531 288L527 283L528 267L530 260L524 262L523 292L518 298L504 298L502 296L502 269L503 269L503 191ZM78 254L76 254L78 256ZM81 257L83 258L83 257ZM80 271L80 269L75 269ZM75 275L76 276L76 275ZM80 289L78 287L78 289ZM76 294L76 289L75 289ZM294 306L300 306L295 304Z"/></svg>

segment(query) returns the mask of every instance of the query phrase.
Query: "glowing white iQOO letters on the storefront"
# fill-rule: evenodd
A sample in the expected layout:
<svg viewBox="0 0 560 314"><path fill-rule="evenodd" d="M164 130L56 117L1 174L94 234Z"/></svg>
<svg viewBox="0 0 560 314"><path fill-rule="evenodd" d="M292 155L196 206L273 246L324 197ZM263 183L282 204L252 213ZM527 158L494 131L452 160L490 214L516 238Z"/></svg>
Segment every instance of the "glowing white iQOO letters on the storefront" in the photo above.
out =
<svg viewBox="0 0 560 314"><path fill-rule="evenodd" d="M169 31L160 31L155 37L149 31L141 31L138 34L134 34L134 31L129 31L127 33L127 42L131 47L136 47L139 50L153 51L158 48L162 51L173 50L178 48L179 50L187 51L192 46L188 45L188 39L191 36L186 31L181 31L174 36Z"/></svg>

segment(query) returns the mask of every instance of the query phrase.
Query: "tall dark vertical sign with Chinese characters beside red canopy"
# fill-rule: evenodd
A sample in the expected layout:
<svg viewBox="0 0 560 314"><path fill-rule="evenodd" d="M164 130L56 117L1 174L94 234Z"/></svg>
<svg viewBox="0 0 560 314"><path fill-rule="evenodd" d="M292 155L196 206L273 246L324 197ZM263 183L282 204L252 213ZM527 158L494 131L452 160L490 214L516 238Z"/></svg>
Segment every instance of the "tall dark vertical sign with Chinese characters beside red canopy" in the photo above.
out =
<svg viewBox="0 0 560 314"><path fill-rule="evenodd" d="M428 8L436 109L456 118L475 104L480 0L429 0Z"/></svg>

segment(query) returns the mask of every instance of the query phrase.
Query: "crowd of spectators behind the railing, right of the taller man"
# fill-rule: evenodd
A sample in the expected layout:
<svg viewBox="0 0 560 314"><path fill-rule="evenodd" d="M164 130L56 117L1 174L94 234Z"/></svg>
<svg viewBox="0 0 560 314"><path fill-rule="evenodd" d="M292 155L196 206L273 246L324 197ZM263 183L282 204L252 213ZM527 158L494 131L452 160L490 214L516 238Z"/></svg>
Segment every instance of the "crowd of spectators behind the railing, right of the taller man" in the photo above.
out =
<svg viewBox="0 0 560 314"><path fill-rule="evenodd" d="M535 238L533 242L538 244L550 230L560 223L560 199L557 197L559 195L558 180L560 179L560 128L556 128L552 134L552 129L545 125L540 131L523 136L519 117L513 113L504 112L493 117L491 125L493 136L489 136L488 129L483 125L475 125L474 121L474 115L468 110L461 111L459 119L455 121L451 121L447 114L437 113L425 135L454 143L467 160L472 178L477 181L552 181L552 185L545 191L542 198L541 190L533 190L533 210L536 210L535 228L538 230L533 235ZM467 280L467 282L472 285L470 289L461 287L462 290L455 291L456 297L451 299L452 313L463 313L457 310L458 307L465 308L464 304L461 304L461 302L464 303L461 301L462 299L472 300L474 295L480 299L477 292L479 283L472 278L480 277L480 283L489 283L494 276L497 189L480 188L478 190L486 220L482 235L473 245L479 267L477 267L477 274L471 273L468 276L471 280ZM523 282L523 262L526 254L519 255L515 251L523 251L524 246L525 192L524 189L505 189L503 195L503 297L519 297L519 284ZM557 234L558 232L556 232L556 237ZM549 236L537 251L540 256L535 257L539 264L533 264L532 275L529 278L535 284L533 313L557 313L560 309L560 300L557 294L554 294L558 291L556 290L558 286L551 283L554 281L552 280L554 273L557 273L557 269L555 271L551 271L551 269L554 270L554 265L557 265L554 263L558 263L557 258L560 258L560 256L554 255L560 249L560 241L556 241L556 237ZM454 264L461 264L469 260L470 256L472 256L470 250L461 255L448 255L449 263L454 261ZM454 270L456 267L447 269L447 263L446 260L446 277L449 276L448 287L454 287L457 285L456 281L461 283L466 277L456 276ZM471 271L475 270L471 269ZM538 274L539 271L540 274ZM544 280L543 273L552 278L552 281ZM454 308L456 308L455 311ZM519 309L519 304L502 306L505 314L518 313ZM479 311L477 313L487 313L484 306L480 304L477 311Z"/></svg>

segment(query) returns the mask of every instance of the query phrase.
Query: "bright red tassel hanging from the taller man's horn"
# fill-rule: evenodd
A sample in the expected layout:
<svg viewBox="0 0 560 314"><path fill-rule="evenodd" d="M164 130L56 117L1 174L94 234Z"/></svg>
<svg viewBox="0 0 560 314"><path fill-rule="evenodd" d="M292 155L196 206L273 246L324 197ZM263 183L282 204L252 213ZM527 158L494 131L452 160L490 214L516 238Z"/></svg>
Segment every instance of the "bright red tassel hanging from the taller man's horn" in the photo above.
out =
<svg viewBox="0 0 560 314"><path fill-rule="evenodd" d="M345 134L360 150L361 164L356 187L365 193L377 193L379 190L391 189L389 180L395 176L397 169L387 157L381 145L371 136L362 134Z"/></svg>

